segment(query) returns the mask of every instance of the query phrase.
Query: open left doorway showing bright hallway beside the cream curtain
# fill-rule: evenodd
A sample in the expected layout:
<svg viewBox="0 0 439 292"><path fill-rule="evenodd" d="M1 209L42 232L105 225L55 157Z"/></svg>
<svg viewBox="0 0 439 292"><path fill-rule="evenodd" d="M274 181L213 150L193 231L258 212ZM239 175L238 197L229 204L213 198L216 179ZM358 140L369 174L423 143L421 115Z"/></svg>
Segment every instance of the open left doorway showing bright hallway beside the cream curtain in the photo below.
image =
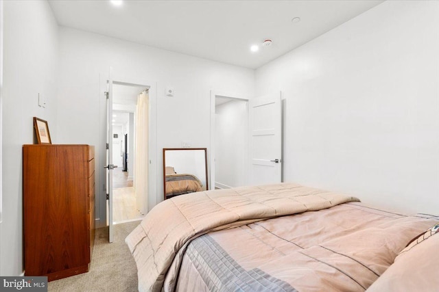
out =
<svg viewBox="0 0 439 292"><path fill-rule="evenodd" d="M117 165L112 171L113 224L141 220L146 213L139 206L134 188L137 179L134 168L138 158L134 152L138 139L136 130L137 127L147 128L147 124L137 124L136 111L139 95L145 90L139 85L113 85L112 161Z"/></svg>

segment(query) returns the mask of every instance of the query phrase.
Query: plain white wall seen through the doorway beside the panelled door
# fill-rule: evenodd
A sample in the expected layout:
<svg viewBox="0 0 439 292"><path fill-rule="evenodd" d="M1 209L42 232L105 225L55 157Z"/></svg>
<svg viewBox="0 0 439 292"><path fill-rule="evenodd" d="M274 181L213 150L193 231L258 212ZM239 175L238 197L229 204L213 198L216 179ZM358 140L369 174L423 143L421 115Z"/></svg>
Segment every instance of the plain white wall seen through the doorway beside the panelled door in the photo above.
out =
<svg viewBox="0 0 439 292"><path fill-rule="evenodd" d="M247 184L248 109L246 101L232 100L215 107L215 186Z"/></svg>

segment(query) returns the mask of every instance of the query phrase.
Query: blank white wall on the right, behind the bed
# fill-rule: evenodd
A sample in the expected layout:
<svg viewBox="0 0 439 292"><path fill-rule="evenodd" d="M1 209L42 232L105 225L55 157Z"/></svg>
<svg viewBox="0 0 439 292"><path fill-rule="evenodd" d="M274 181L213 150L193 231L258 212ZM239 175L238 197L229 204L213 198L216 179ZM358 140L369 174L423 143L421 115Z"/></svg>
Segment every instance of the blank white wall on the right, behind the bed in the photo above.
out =
<svg viewBox="0 0 439 292"><path fill-rule="evenodd" d="M438 15L385 1L257 70L285 98L285 181L438 213Z"/></svg>

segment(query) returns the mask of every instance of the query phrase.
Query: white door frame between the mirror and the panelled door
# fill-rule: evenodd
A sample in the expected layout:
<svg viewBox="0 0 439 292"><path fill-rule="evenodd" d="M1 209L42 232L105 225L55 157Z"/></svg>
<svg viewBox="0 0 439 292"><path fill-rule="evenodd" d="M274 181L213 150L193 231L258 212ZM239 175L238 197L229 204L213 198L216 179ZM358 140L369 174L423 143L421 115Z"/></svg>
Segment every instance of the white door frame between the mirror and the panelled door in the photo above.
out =
<svg viewBox="0 0 439 292"><path fill-rule="evenodd" d="M215 189L215 135L216 135L216 128L215 128L215 98L216 97L226 97L226 98L232 98L235 101L245 101L247 103L247 133L245 135L245 145L244 148L248 150L248 131L249 131L249 125L248 125L248 115L249 115L249 109L248 109L248 103L249 99L241 96L239 94L236 94L235 92L224 92L219 90L211 90L211 146L210 146L210 153L209 153L209 170L210 170L210 176L209 180L211 183L209 183L209 189ZM245 167L247 170L245 181L248 182L248 155L244 157L245 161Z"/></svg>

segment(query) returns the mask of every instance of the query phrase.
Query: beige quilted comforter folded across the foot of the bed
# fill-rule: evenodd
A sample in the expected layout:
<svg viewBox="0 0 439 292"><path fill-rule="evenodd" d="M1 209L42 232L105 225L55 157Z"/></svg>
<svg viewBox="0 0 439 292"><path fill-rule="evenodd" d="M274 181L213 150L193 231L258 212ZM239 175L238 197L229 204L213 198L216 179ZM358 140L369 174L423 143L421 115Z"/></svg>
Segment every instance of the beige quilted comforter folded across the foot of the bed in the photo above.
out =
<svg viewBox="0 0 439 292"><path fill-rule="evenodd" d="M192 239L272 217L327 209L357 198L294 183L202 191L161 202L126 238L139 291L174 289L182 252Z"/></svg>

